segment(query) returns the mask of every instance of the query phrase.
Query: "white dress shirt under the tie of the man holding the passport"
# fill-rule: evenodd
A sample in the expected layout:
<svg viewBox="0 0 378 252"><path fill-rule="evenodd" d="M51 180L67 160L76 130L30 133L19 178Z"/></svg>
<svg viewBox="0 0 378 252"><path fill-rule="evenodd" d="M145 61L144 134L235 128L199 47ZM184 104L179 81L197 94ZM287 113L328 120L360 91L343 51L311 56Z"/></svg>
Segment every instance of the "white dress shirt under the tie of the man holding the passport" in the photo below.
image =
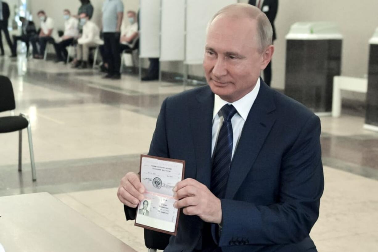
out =
<svg viewBox="0 0 378 252"><path fill-rule="evenodd" d="M249 110L251 110L252 105L256 100L257 94L259 93L259 90L260 78L257 80L256 86L253 88L251 92L249 92L248 94L246 94L245 96L243 96L235 102L227 102L223 100L221 97L219 97L217 94L214 95L211 156L214 154L215 144L217 142L218 134L223 123L223 116L220 115L220 109L226 104L232 104L237 110L237 113L231 119L232 132L234 133L234 142L232 144L231 156L231 158L233 158L237 144L240 139L240 135L242 135L244 123L247 120Z"/></svg>

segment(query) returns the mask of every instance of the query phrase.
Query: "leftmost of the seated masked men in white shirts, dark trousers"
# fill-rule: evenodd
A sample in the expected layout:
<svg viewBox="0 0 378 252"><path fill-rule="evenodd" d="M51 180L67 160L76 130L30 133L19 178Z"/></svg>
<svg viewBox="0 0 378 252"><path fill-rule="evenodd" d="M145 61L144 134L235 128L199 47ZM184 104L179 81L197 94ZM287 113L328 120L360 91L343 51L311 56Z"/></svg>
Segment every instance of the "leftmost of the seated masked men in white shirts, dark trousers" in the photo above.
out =
<svg viewBox="0 0 378 252"><path fill-rule="evenodd" d="M47 17L45 11L39 11L37 13L41 22L41 31L39 35L30 38L30 42L33 45L33 56L35 59L43 59L45 54L46 44L52 43L56 50L55 41L59 39L58 32L55 29L54 20L51 17ZM39 43L39 49L37 47Z"/></svg>

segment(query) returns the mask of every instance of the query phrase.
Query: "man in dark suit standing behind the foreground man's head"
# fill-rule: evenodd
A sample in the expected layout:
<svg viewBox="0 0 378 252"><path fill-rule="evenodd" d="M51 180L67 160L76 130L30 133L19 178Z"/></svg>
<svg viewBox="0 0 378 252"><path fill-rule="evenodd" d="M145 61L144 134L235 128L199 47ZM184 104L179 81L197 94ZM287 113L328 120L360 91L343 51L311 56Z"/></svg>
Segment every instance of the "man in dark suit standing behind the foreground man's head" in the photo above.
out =
<svg viewBox="0 0 378 252"><path fill-rule="evenodd" d="M261 9L262 12L266 14L273 27L273 41L276 40L276 27L274 26L274 20L276 19L278 10L278 0L249 0L248 3ZM271 80L272 62L270 62L264 70L264 81L268 86L270 86Z"/></svg>

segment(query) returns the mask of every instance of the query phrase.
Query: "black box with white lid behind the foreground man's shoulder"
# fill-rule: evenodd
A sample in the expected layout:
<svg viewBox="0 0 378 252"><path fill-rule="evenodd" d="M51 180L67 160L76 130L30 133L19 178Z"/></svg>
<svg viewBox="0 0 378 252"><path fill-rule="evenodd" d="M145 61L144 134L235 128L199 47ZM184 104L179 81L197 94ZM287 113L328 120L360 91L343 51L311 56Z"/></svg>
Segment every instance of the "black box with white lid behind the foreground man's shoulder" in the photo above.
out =
<svg viewBox="0 0 378 252"><path fill-rule="evenodd" d="M342 35L335 23L294 23L286 36L285 94L330 115L333 76L341 73Z"/></svg>

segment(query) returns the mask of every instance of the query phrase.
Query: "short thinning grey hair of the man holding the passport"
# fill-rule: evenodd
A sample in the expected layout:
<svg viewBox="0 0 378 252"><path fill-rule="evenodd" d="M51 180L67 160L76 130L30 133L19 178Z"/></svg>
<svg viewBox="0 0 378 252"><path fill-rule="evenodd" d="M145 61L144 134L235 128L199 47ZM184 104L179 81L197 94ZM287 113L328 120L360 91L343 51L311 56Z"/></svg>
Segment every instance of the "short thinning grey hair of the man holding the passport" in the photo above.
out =
<svg viewBox="0 0 378 252"><path fill-rule="evenodd" d="M249 18L257 21L257 43L259 44L259 51L263 53L266 47L273 44L273 28L268 17L259 8L247 3L235 3L228 5L212 17L208 24L208 29L211 23L219 15L227 15L235 18Z"/></svg>

